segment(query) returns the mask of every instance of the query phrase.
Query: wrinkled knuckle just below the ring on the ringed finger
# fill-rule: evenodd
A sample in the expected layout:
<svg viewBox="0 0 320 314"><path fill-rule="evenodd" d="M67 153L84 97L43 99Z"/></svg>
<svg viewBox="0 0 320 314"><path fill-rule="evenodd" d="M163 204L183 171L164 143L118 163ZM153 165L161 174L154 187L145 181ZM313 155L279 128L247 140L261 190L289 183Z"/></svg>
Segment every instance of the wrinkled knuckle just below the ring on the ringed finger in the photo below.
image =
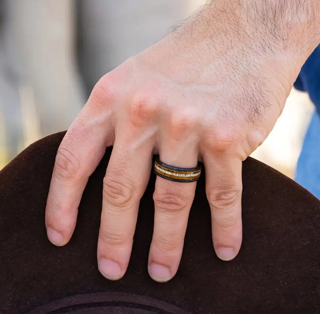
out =
<svg viewBox="0 0 320 314"><path fill-rule="evenodd" d="M187 208L187 197L183 197L179 192L167 191L153 194L155 206L163 212L181 212Z"/></svg>

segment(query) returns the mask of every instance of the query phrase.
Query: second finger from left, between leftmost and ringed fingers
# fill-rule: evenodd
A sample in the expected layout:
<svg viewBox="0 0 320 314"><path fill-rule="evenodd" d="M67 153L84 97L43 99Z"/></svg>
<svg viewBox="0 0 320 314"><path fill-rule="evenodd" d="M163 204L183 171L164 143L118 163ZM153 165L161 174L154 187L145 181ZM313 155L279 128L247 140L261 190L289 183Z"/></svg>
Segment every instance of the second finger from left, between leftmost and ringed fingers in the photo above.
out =
<svg viewBox="0 0 320 314"><path fill-rule="evenodd" d="M135 132L116 136L103 181L98 265L108 279L120 279L129 263L140 198L150 177L153 139Z"/></svg>

